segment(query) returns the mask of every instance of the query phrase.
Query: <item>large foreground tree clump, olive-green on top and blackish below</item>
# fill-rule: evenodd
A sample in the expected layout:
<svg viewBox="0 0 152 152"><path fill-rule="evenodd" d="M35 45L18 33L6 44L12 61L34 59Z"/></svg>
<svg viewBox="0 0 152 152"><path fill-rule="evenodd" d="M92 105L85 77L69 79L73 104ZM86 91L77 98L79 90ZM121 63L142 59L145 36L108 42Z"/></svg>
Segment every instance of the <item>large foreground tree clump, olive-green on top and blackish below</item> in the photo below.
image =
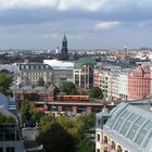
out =
<svg viewBox="0 0 152 152"><path fill-rule="evenodd" d="M46 152L75 152L79 139L83 137L84 123L68 117L52 119L49 116L40 121L38 142Z"/></svg>

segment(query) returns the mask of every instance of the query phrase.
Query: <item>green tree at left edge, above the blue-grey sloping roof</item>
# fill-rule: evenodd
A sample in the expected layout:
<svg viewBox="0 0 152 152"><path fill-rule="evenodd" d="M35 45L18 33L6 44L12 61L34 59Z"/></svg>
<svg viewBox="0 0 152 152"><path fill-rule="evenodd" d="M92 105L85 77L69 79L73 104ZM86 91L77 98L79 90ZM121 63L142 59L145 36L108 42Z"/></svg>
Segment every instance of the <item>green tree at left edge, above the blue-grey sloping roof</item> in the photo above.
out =
<svg viewBox="0 0 152 152"><path fill-rule="evenodd" d="M10 94L10 86L13 81L11 74L0 73L0 92L8 96Z"/></svg>

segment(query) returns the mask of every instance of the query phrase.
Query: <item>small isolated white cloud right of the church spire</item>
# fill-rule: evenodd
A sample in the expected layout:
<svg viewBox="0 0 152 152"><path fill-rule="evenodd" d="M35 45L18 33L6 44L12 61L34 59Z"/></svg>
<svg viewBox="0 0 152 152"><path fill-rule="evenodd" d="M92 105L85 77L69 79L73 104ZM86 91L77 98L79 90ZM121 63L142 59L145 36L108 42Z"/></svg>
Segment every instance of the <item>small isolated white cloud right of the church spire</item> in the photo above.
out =
<svg viewBox="0 0 152 152"><path fill-rule="evenodd" d="M117 21L114 21L114 22L101 22L101 23L98 23L96 25L96 29L98 30L107 30L107 29L111 29L117 25L119 25L121 22L117 22Z"/></svg>

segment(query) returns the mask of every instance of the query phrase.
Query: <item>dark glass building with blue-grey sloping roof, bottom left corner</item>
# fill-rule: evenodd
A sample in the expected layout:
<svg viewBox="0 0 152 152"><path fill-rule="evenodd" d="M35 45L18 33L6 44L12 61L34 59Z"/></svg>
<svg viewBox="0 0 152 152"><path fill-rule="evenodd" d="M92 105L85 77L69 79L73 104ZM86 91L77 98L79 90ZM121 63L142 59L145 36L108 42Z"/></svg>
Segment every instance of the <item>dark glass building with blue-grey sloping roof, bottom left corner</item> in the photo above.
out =
<svg viewBox="0 0 152 152"><path fill-rule="evenodd" d="M25 152L17 117L9 99L0 93L0 152Z"/></svg>

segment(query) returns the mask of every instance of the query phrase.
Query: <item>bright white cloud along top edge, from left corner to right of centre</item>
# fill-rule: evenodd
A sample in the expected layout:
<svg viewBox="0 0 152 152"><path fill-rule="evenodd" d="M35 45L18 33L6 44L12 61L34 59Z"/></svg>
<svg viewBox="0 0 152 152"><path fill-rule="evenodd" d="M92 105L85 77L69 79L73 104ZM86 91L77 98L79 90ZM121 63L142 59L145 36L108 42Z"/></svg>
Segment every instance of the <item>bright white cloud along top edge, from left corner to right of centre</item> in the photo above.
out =
<svg viewBox="0 0 152 152"><path fill-rule="evenodd" d="M103 2L104 0L0 0L0 9L49 7L59 11L75 8L97 11Z"/></svg>

